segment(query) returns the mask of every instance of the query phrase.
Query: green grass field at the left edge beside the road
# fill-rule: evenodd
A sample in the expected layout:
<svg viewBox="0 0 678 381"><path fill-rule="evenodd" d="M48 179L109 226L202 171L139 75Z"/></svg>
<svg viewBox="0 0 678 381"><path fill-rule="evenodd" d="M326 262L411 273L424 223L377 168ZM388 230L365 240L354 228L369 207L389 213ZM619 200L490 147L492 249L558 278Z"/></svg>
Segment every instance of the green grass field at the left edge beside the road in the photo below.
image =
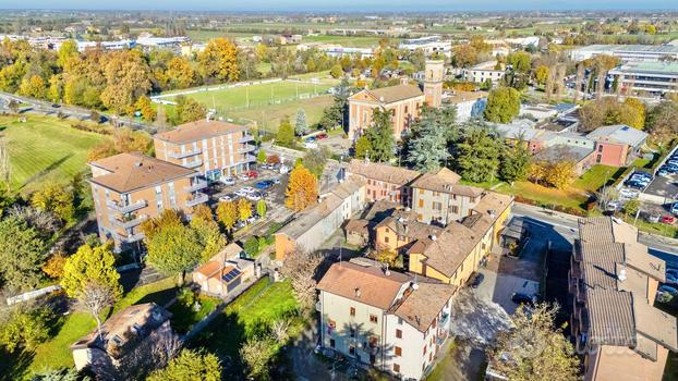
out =
<svg viewBox="0 0 678 381"><path fill-rule="evenodd" d="M8 139L11 184L27 193L48 181L68 182L87 169L87 150L105 137L71 127L69 121L26 114L0 116L0 136Z"/></svg>

